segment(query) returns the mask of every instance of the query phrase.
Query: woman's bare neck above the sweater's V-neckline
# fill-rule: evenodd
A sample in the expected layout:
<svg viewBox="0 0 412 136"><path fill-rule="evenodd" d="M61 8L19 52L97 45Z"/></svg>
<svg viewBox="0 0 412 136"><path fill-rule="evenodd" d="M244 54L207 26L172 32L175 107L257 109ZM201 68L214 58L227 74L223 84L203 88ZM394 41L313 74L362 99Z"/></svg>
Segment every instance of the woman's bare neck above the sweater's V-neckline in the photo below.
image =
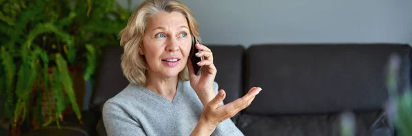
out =
<svg viewBox="0 0 412 136"><path fill-rule="evenodd" d="M178 77L164 78L159 76L150 76L150 74L148 74L146 88L172 101L174 95L176 94L178 82Z"/></svg>

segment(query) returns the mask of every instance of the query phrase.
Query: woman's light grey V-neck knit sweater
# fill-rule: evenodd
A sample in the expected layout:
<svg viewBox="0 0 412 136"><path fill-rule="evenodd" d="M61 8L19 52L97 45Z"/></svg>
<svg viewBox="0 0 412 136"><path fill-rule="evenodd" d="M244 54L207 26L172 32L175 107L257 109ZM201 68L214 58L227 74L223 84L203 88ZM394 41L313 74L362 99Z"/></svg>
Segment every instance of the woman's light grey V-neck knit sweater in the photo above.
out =
<svg viewBox="0 0 412 136"><path fill-rule="evenodd" d="M214 83L218 92L218 84ZM112 135L190 135L201 117L203 104L189 81L179 81L172 101L145 87L129 84L104 103L103 122ZM227 119L211 135L243 135Z"/></svg>

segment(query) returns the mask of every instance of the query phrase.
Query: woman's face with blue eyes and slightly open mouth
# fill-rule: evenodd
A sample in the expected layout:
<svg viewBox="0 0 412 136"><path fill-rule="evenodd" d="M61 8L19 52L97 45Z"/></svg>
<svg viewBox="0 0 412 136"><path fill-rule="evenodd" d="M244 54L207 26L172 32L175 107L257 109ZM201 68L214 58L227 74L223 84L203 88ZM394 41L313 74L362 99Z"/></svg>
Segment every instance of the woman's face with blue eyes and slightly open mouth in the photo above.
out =
<svg viewBox="0 0 412 136"><path fill-rule="evenodd" d="M161 12L148 20L139 54L145 55L150 76L176 77L187 64L191 44L185 16Z"/></svg>

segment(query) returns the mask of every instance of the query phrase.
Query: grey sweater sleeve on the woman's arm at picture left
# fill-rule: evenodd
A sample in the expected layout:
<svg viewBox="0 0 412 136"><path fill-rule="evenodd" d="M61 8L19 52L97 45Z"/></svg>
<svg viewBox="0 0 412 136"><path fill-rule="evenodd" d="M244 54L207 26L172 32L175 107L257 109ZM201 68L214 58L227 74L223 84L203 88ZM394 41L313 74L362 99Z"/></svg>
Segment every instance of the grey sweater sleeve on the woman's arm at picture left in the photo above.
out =
<svg viewBox="0 0 412 136"><path fill-rule="evenodd" d="M146 135L139 122L133 120L124 108L115 103L105 103L102 118L108 136Z"/></svg>

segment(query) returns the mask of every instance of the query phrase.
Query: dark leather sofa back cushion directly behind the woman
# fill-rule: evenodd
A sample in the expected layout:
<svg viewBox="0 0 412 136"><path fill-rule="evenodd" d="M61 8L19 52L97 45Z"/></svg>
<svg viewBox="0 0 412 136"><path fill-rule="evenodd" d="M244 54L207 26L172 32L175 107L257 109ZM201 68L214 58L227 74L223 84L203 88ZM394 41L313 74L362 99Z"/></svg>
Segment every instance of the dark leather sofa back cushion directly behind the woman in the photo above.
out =
<svg viewBox="0 0 412 136"><path fill-rule="evenodd" d="M230 103L242 94L245 49L240 45L206 46L213 51L214 64L218 69L215 81L219 89L227 92L224 102ZM96 70L91 108L100 108L108 98L115 96L128 85L120 66L122 54L123 49L120 46L108 46L103 50L100 65Z"/></svg>

